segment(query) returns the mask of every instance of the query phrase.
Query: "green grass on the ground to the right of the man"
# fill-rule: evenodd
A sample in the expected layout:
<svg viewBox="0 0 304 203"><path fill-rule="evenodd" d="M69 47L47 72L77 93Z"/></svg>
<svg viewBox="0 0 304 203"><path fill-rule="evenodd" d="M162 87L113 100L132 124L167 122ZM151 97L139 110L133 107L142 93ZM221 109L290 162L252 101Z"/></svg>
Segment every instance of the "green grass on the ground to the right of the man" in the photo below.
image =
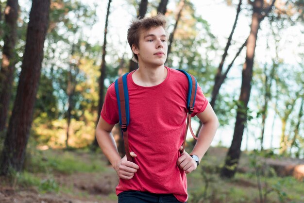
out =
<svg viewBox="0 0 304 203"><path fill-rule="evenodd" d="M216 160L218 159L218 160ZM252 172L236 173L225 180L219 175L218 154L207 154L199 168L187 175L189 203L260 203L257 177ZM260 176L264 203L303 203L304 182L293 177Z"/></svg>

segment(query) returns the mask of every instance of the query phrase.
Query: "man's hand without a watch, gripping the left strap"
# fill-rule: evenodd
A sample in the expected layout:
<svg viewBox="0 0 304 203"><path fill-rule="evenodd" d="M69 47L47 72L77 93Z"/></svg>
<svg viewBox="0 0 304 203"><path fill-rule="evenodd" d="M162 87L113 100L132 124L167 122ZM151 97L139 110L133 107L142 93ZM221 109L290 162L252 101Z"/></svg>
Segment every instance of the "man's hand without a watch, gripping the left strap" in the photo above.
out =
<svg viewBox="0 0 304 203"><path fill-rule="evenodd" d="M130 155L134 158L137 155L134 152L130 152ZM139 169L139 166L131 161L127 160L126 155L118 162L114 167L119 178L130 180Z"/></svg>

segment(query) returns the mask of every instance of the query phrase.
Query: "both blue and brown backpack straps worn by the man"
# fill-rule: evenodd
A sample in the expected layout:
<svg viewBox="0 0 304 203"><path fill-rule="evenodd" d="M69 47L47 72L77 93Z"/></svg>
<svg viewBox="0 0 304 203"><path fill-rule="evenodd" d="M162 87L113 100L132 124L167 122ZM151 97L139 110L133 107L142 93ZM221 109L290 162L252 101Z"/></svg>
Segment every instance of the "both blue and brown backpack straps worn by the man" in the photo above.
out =
<svg viewBox="0 0 304 203"><path fill-rule="evenodd" d="M188 131L188 127L190 126L190 132L194 139L198 139L192 130L191 127L191 114L194 111L194 103L195 103L195 96L196 96L196 90L197 90L197 80L196 78L187 73L185 70L177 69L181 72L183 72L187 79L188 79L188 97L187 97L187 123L186 123L186 131L184 136L184 142L183 142L183 150L181 153L184 152L185 143L186 143L186 135ZM117 103L118 103L118 114L119 114L119 124L121 128L121 132L123 135L123 142L124 142L124 148L126 151L127 160L133 162L132 156L130 155L129 150L129 141L128 141L128 125L130 121L130 108L129 108L129 92L128 92L128 85L127 85L127 75L129 73L125 73L124 75L120 76L115 81L115 92L117 97Z"/></svg>

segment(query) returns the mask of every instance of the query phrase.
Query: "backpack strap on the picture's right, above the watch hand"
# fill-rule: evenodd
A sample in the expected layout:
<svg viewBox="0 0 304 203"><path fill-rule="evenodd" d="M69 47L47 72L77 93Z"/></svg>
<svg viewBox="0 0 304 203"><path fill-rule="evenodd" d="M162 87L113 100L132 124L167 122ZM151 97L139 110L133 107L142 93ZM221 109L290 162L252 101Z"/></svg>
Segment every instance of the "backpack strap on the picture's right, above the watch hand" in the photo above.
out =
<svg viewBox="0 0 304 203"><path fill-rule="evenodd" d="M181 69L177 69L181 72L183 72L187 79L188 79L188 97L187 97L187 109L188 109L188 113L187 113L187 123L186 123L186 130L185 130L185 135L184 135L184 142L183 142L183 149L181 151L181 153L184 152L185 149L185 144L186 144L186 136L187 136L187 132L188 132L188 128L190 129L191 135L193 136L194 139L198 139L192 130L191 127L191 114L194 111L194 104L195 104L195 97L196 97L196 90L197 90L197 80L196 78L187 73L185 70L181 70Z"/></svg>

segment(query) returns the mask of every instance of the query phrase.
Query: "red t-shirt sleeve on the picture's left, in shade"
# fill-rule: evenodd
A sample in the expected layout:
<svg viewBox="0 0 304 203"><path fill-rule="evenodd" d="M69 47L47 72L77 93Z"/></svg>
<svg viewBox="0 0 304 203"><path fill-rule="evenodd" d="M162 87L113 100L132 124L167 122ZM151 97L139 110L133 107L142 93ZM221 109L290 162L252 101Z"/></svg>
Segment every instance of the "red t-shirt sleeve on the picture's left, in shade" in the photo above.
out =
<svg viewBox="0 0 304 203"><path fill-rule="evenodd" d="M105 94L101 117L109 124L114 125L119 122L118 104L115 93L115 85L111 84Z"/></svg>

